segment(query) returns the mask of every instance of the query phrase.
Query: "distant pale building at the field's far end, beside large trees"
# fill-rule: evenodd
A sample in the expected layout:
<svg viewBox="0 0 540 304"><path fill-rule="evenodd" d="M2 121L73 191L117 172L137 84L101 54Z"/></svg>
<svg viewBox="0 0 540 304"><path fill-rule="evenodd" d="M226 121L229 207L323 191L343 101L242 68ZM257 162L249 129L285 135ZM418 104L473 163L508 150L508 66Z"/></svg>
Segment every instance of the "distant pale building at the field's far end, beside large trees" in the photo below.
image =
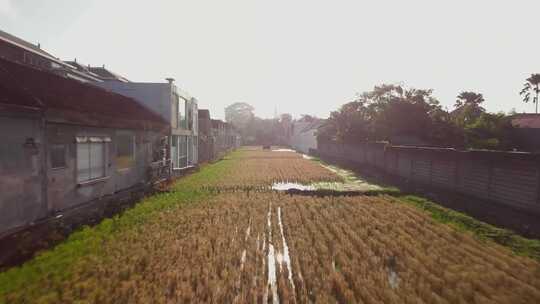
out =
<svg viewBox="0 0 540 304"><path fill-rule="evenodd" d="M310 149L317 149L317 129L324 120L318 118L305 117L292 124L289 138L291 148L308 154Z"/></svg>

